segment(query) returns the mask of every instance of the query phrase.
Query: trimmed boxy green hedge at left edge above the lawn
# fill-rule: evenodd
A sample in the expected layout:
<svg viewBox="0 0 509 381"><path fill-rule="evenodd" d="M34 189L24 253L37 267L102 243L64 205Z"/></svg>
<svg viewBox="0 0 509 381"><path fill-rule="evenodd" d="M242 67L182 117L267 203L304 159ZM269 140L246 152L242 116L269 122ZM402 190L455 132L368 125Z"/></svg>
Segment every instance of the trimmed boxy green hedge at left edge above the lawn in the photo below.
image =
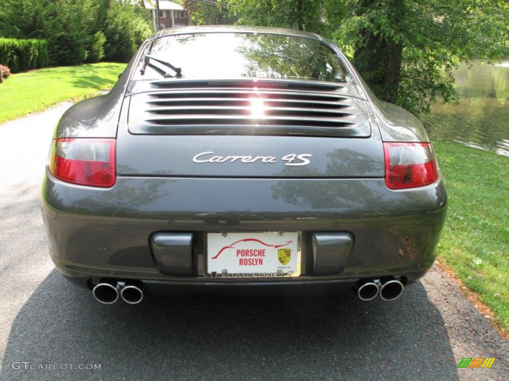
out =
<svg viewBox="0 0 509 381"><path fill-rule="evenodd" d="M49 65L48 48L46 40L0 38L0 63L13 73L43 68Z"/></svg>

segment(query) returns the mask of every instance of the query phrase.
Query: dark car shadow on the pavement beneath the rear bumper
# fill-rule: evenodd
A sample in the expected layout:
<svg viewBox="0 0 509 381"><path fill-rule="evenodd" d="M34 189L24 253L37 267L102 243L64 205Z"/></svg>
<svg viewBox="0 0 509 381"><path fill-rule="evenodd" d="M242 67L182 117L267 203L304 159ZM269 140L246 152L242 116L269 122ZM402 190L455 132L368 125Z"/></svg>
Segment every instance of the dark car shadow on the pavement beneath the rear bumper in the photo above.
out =
<svg viewBox="0 0 509 381"><path fill-rule="evenodd" d="M393 302L149 295L102 305L53 270L16 316L0 379L453 380L456 366L420 282Z"/></svg>

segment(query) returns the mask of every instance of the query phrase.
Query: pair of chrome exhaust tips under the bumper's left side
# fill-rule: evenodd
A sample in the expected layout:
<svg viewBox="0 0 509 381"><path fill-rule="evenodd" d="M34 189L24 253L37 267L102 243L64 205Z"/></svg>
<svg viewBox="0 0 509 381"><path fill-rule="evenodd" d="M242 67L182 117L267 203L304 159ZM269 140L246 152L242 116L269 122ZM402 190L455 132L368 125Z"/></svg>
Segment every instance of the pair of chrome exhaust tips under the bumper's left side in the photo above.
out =
<svg viewBox="0 0 509 381"><path fill-rule="evenodd" d="M92 290L94 298L102 304L113 304L119 297L128 304L143 300L145 284L140 281L115 281L101 279Z"/></svg>

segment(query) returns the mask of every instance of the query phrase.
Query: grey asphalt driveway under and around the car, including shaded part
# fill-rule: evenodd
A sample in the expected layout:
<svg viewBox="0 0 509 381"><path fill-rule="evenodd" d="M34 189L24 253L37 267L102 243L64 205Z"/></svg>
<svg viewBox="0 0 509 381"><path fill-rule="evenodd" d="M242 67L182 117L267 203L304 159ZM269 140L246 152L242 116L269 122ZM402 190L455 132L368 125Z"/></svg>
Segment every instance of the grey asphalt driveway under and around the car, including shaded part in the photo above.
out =
<svg viewBox="0 0 509 381"><path fill-rule="evenodd" d="M101 305L54 270L39 211L69 107L0 125L0 379L506 380L509 343L434 267L394 302L146 298ZM458 368L464 357L491 368Z"/></svg>

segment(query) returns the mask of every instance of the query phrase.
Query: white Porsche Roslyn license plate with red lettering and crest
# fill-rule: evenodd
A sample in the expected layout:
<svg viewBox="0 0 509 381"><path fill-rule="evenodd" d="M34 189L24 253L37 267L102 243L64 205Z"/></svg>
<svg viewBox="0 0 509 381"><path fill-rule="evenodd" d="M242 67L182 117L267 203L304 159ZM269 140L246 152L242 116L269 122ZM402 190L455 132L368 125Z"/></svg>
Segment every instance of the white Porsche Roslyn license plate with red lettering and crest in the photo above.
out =
<svg viewBox="0 0 509 381"><path fill-rule="evenodd" d="M209 278L300 275L298 232L208 233Z"/></svg>

